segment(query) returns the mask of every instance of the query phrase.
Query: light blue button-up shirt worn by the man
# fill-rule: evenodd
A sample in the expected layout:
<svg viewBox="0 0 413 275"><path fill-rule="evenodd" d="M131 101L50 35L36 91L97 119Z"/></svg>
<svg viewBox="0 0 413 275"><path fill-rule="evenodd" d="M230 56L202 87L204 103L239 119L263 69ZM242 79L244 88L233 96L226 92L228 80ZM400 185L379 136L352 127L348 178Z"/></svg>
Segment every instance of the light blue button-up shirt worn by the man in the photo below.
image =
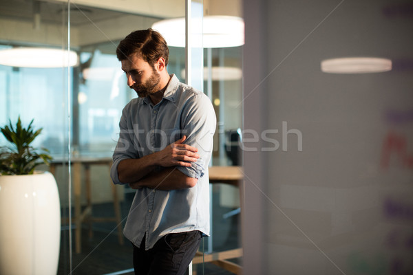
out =
<svg viewBox="0 0 413 275"><path fill-rule="evenodd" d="M209 235L208 165L216 126L211 100L201 91L180 83L172 74L158 104L153 106L149 98L134 98L123 109L119 126L111 170L115 184L123 184L118 178L120 161L160 151L183 135L187 136L184 144L198 148L200 155L191 167L176 166L185 175L198 179L193 188L136 190L123 230L127 239L140 247L146 236L148 250L168 233L200 230Z"/></svg>

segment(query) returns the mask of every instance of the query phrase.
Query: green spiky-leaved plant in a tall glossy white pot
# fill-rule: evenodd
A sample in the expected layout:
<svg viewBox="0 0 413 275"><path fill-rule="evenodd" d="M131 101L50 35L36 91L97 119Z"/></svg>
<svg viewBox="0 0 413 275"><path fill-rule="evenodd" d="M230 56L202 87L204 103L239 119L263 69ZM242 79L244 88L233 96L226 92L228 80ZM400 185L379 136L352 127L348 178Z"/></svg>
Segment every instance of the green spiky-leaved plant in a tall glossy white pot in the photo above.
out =
<svg viewBox="0 0 413 275"><path fill-rule="evenodd" d="M49 164L47 150L33 148L42 129L0 127L10 146L0 147L0 274L56 274L61 213L53 175L37 171Z"/></svg>

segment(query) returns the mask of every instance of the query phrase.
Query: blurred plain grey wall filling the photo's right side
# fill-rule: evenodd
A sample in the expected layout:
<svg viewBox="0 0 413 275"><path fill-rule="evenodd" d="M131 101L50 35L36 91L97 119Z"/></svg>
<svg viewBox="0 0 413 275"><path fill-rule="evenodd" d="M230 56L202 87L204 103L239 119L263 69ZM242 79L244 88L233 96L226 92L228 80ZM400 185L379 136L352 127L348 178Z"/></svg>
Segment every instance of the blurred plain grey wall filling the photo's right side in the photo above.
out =
<svg viewBox="0 0 413 275"><path fill-rule="evenodd" d="M244 152L244 274L411 274L411 1L251 2L244 129L278 133ZM394 68L320 71L343 56ZM399 147L387 165L390 133ZM268 137L279 148L262 152Z"/></svg>

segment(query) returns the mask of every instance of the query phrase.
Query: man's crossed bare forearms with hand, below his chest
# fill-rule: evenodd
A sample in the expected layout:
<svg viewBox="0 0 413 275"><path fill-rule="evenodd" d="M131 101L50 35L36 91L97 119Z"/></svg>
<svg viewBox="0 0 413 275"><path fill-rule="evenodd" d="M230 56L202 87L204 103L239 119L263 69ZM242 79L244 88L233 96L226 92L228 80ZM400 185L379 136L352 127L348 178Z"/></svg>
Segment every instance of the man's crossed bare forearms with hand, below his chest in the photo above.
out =
<svg viewBox="0 0 413 275"><path fill-rule="evenodd" d="M183 144L186 136L170 144L162 151L146 155L139 159L124 159L118 164L118 177L121 182L129 182L134 189L142 187L173 190L195 186L198 179L188 177L176 166L191 166L200 155L198 149ZM165 167L155 171L158 166Z"/></svg>

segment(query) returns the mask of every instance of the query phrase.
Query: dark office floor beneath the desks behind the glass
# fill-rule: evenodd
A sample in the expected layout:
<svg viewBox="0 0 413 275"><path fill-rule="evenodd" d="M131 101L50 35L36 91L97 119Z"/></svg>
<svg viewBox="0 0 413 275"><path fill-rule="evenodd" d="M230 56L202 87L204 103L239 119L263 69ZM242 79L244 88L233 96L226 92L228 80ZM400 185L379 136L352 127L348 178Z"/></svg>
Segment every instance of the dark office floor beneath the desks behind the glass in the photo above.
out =
<svg viewBox="0 0 413 275"><path fill-rule="evenodd" d="M122 203L123 217L129 212L131 199L125 199ZM213 206L213 251L222 251L240 247L238 226L239 214L224 219L223 214L229 212L228 208L220 208L218 205ZM112 204L104 203L94 205L93 214L99 217L112 215ZM63 216L66 213L63 212ZM125 239L125 244L118 243L115 223L94 223L93 236L89 237L87 225L82 228L82 252L76 254L73 249L72 267L70 267L69 243L70 236L68 226L63 226L61 232L61 253L59 260L58 275L103 275L103 274L133 274L126 272L133 268L132 265L132 247L129 241ZM74 238L74 232L72 232ZM72 240L74 243L74 240ZM201 243L201 248L207 249L208 237L205 237ZM234 259L240 263L241 259ZM70 270L72 269L72 273ZM203 263L195 265L196 274L204 275L230 275L233 274L212 263Z"/></svg>

